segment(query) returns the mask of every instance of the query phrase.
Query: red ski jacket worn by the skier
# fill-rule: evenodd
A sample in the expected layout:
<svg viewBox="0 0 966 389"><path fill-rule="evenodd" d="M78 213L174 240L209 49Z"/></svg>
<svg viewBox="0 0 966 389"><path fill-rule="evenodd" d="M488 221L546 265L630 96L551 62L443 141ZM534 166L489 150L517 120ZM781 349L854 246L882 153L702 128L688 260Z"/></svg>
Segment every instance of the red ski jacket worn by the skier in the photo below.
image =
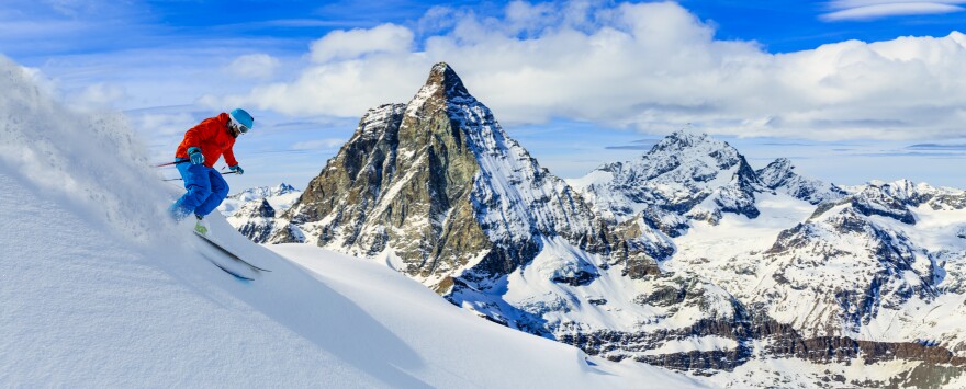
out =
<svg viewBox="0 0 966 389"><path fill-rule="evenodd" d="M184 133L184 140L178 146L175 158L188 159L188 148L198 147L204 155L206 167L214 168L222 155L225 156L225 162L228 162L229 167L234 167L238 164L238 161L235 160L232 146L235 146L235 137L228 130L228 114L223 112L215 117L201 121Z"/></svg>

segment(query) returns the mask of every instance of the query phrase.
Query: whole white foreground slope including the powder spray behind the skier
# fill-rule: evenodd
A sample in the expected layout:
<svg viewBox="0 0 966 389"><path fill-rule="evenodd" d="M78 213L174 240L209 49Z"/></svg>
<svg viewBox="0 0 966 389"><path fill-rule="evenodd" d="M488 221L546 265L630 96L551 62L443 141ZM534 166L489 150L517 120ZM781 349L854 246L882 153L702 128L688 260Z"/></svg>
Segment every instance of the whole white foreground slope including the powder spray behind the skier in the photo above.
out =
<svg viewBox="0 0 966 389"><path fill-rule="evenodd" d="M254 273L166 219L179 188L122 119L54 114L3 58L0 88L0 386L699 386L481 320L381 264L270 251L212 214L215 239L271 270Z"/></svg>

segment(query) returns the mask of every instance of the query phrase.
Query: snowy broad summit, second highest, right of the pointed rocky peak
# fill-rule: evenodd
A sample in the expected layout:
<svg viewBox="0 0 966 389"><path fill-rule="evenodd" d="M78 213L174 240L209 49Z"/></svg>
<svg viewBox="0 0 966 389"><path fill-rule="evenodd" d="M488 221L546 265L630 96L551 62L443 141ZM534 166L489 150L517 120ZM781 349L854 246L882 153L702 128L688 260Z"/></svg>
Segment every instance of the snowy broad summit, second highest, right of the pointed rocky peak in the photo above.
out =
<svg viewBox="0 0 966 389"><path fill-rule="evenodd" d="M638 159L597 168L572 184L611 222L642 218L670 237L689 220L722 213L755 218L755 194L770 191L737 149L707 134L676 131Z"/></svg>

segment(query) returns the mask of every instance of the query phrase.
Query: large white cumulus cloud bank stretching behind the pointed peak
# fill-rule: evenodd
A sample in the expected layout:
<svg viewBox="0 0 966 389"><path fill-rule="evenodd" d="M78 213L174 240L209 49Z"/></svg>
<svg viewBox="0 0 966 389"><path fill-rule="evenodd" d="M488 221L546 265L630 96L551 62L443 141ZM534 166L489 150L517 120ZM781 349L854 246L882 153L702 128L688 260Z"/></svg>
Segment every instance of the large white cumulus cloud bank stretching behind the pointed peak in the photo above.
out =
<svg viewBox="0 0 966 389"><path fill-rule="evenodd" d="M530 18L533 16L533 18ZM217 100L292 115L358 117L408 101L449 62L506 124L551 118L662 134L692 123L737 136L966 136L966 36L856 41L773 55L720 41L677 3L514 2L503 18L434 9L406 27L333 32L292 82ZM450 22L441 23L440 20Z"/></svg>

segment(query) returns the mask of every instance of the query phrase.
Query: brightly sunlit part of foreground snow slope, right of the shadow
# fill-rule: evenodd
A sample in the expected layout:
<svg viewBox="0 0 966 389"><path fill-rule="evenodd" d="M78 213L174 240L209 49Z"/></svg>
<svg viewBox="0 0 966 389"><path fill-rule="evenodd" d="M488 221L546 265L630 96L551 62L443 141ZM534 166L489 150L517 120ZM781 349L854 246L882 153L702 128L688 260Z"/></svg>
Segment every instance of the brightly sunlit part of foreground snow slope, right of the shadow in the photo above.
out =
<svg viewBox="0 0 966 389"><path fill-rule="evenodd" d="M572 346L480 320L375 261L310 244L269 248L312 271L377 321L394 323L390 325L393 333L416 345L425 361L423 374L439 376L427 380L434 387L700 386L664 369L588 357ZM415 323L416 317L425 322Z"/></svg>

